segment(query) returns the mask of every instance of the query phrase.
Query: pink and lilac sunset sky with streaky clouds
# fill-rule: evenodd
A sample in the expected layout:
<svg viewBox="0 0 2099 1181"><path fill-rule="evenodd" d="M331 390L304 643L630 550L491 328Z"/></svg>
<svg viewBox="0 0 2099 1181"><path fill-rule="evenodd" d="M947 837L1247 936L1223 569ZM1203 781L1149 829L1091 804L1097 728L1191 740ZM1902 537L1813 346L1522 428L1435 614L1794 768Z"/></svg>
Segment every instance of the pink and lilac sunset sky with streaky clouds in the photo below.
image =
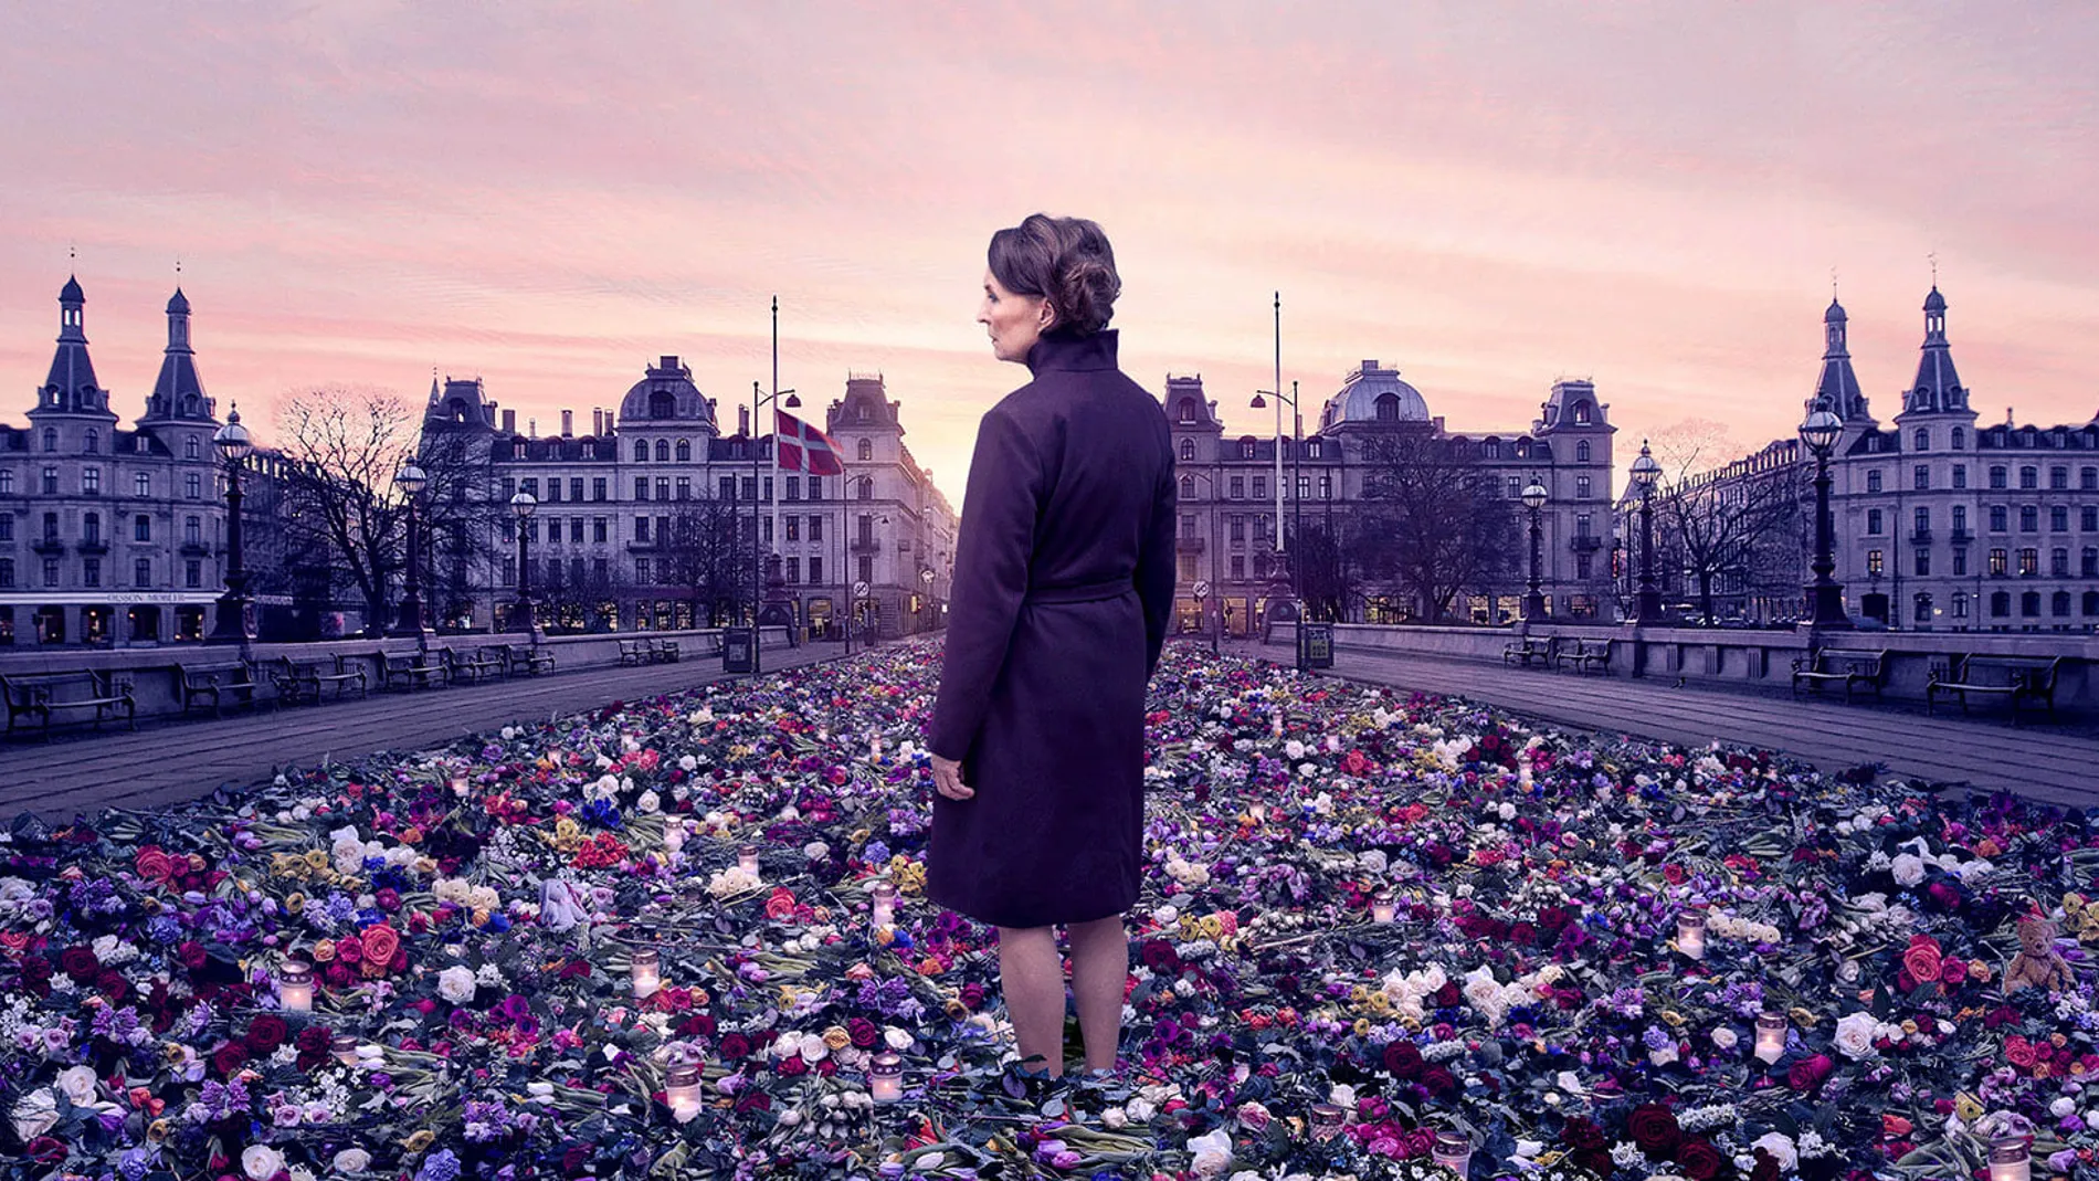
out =
<svg viewBox="0 0 2099 1181"><path fill-rule="evenodd" d="M1881 420L1937 254L1984 420L2099 409L2089 4L0 6L0 420L78 266L130 420L183 260L220 413L479 373L588 428L661 352L737 399L879 369L959 501L1026 380L984 241L1091 216L1123 367L1232 432L1360 359L1455 428L1589 375L1637 436L1786 434L1830 269ZM78 264L67 248L78 243Z"/></svg>

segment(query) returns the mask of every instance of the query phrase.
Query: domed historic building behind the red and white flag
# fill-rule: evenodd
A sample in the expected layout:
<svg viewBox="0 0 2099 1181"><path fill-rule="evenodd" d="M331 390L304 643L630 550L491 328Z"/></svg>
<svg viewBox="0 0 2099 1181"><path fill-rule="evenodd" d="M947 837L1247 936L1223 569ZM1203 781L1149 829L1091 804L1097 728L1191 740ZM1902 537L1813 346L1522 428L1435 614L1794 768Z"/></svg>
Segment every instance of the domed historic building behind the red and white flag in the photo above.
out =
<svg viewBox="0 0 2099 1181"><path fill-rule="evenodd" d="M479 378L432 380L422 447L432 453L449 441L487 466L479 485L495 510L489 552L504 554L493 564L462 556L455 568L437 571L441 621L506 623L518 566L504 506L525 491L539 501L525 522L535 602L588 587L590 598L615 604L621 627L707 625L693 587L674 575L678 531L693 514L726 512L745 537L758 531L760 554L779 558L768 608L781 604L812 634L835 634L848 600L856 602L856 636L940 623L955 510L905 445L900 403L888 401L879 373L850 373L825 411L842 476L775 472L772 436L751 430L749 405L739 407L735 434L722 432L716 413L718 399L699 390L678 357L646 367L617 409L592 409L590 434L575 434L573 411L560 411L560 434L539 436L531 424L521 434L516 411L497 415ZM854 596L854 583L865 594Z"/></svg>

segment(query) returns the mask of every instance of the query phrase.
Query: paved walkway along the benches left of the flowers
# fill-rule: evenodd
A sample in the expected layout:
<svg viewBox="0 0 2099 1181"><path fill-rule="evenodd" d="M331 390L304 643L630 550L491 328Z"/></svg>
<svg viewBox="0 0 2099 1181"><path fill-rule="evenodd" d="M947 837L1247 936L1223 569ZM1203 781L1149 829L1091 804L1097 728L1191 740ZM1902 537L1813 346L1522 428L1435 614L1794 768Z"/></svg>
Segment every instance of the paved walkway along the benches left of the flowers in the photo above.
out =
<svg viewBox="0 0 2099 1181"><path fill-rule="evenodd" d="M858 648L856 648L858 650ZM766 671L844 654L842 644L766 648ZM220 787L264 782L285 766L317 766L376 751L422 751L500 730L521 717L600 709L724 680L720 657L670 665L556 671L485 686L374 692L260 713L141 724L139 732L55 734L48 745L0 743L0 818L36 812L46 820L99 808L155 808Z"/></svg>

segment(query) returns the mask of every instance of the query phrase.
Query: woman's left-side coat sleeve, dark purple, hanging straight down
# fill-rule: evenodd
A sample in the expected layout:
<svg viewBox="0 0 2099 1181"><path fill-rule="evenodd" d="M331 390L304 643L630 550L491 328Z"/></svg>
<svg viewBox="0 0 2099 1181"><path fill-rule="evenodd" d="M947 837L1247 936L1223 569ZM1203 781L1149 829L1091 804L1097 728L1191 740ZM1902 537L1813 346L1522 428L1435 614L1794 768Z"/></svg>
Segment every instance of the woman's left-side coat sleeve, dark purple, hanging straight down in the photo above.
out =
<svg viewBox="0 0 2099 1181"><path fill-rule="evenodd" d="M976 430L970 487L955 539L955 583L947 608L947 650L928 749L963 759L976 745L991 686L1029 594L1043 468L1035 443L993 409Z"/></svg>

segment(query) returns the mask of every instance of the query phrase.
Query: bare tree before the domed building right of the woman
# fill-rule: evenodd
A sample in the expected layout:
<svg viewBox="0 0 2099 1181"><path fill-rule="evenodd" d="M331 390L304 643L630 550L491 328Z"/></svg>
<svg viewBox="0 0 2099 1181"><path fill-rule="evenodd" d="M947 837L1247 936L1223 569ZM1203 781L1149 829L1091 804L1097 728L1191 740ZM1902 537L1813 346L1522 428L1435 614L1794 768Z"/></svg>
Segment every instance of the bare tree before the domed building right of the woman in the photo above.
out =
<svg viewBox="0 0 2099 1181"><path fill-rule="evenodd" d="M1507 577L1520 550L1513 501L1457 443L1402 428L1364 447L1364 571L1398 583L1432 623L1461 592Z"/></svg>

